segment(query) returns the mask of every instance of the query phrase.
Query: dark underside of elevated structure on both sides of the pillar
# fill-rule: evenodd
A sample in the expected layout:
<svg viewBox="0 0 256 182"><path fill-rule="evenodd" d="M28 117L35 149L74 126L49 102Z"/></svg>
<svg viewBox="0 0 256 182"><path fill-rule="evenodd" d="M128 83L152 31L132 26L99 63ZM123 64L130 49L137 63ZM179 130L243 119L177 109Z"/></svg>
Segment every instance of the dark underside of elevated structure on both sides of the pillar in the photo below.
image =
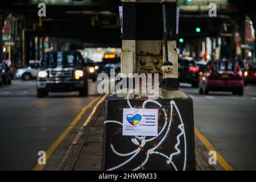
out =
<svg viewBox="0 0 256 182"><path fill-rule="evenodd" d="M76 38L83 42L108 44L121 47L121 31L119 28L119 0L91 0L84 4L47 5L46 17L39 26L38 6L32 1L1 1L0 11L14 14L26 20L27 30L31 36L54 36L59 38ZM79 2L79 1L74 1ZM230 0L239 11L251 10L247 0ZM249 11L251 14L251 11ZM183 12L180 15L179 36L183 38L199 38L218 36L221 24L232 22L236 12L221 13L216 18L209 18L208 13ZM194 30L200 26L201 33Z"/></svg>

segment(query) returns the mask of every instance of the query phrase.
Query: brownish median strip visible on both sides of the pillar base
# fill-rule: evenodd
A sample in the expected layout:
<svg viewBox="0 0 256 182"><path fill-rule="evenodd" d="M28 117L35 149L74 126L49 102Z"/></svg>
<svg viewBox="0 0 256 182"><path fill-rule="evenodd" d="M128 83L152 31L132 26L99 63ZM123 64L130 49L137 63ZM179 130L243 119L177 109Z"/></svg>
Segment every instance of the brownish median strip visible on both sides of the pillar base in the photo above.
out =
<svg viewBox="0 0 256 182"><path fill-rule="evenodd" d="M102 134L104 121L104 102L98 106L89 124L82 127L69 147L59 166L59 170L98 171L101 170ZM199 139L195 138L196 170L222 170L220 165L208 164L208 150Z"/></svg>

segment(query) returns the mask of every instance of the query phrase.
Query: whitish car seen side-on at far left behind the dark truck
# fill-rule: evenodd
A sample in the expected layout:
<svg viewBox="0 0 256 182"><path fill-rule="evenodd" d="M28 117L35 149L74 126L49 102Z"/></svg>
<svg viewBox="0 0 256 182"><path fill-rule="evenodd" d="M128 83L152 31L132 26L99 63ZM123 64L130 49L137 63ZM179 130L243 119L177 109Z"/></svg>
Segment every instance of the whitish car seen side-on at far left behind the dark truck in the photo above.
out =
<svg viewBox="0 0 256 182"><path fill-rule="evenodd" d="M35 61L30 61L30 65L27 68L17 69L15 78L22 80L31 80L32 78L36 78L38 74L39 63Z"/></svg>

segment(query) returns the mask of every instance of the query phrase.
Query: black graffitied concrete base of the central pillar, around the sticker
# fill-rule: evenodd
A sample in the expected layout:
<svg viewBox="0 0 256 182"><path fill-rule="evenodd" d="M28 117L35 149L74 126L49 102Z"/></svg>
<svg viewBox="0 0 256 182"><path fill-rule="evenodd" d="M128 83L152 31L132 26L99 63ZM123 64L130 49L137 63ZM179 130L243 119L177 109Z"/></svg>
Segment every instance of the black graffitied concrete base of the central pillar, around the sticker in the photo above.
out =
<svg viewBox="0 0 256 182"><path fill-rule="evenodd" d="M158 136L122 135L123 109L158 109ZM180 90L112 94L105 101L104 170L195 170L192 98Z"/></svg>

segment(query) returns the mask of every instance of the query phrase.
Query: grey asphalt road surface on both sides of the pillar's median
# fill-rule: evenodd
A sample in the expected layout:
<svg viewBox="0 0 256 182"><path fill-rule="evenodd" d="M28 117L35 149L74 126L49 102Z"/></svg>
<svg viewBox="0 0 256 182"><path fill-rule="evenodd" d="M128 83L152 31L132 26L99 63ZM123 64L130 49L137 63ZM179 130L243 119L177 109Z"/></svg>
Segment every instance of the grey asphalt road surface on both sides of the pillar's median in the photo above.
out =
<svg viewBox="0 0 256 182"><path fill-rule="evenodd" d="M38 151L46 151L97 94L89 83L89 97L76 92L50 93L36 98L35 81L13 81L0 86L0 170L32 170ZM199 95L198 89L181 84L191 95L195 126L217 152L237 170L256 169L256 86L246 86L243 97L231 93ZM85 112L63 140L44 169L56 169L92 108Z"/></svg>

